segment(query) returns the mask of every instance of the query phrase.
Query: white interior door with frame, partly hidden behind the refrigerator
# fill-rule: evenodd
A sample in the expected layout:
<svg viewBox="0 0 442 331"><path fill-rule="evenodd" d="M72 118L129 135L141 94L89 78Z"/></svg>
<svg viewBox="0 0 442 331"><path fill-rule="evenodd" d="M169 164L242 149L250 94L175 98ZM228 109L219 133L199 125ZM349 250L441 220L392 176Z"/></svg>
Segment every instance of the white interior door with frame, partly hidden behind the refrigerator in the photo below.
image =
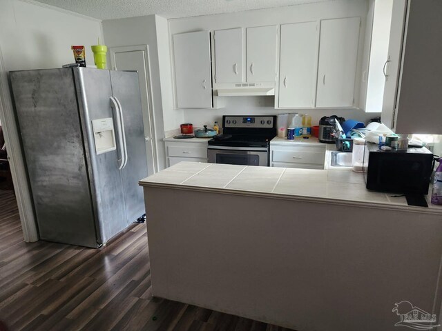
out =
<svg viewBox="0 0 442 331"><path fill-rule="evenodd" d="M146 142L147 169L150 176L157 172L155 121L151 99L151 77L148 62L148 46L111 48L111 65L114 70L135 70L140 80L144 141Z"/></svg>

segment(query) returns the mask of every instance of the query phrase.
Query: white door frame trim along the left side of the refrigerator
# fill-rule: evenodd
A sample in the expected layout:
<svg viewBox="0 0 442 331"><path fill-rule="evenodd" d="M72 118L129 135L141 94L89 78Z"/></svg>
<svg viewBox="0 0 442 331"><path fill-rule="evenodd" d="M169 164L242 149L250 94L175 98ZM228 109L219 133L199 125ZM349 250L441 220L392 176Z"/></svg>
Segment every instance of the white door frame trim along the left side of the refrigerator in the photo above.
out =
<svg viewBox="0 0 442 331"><path fill-rule="evenodd" d="M32 203L25 160L21 152L19 130L15 121L15 112L8 83L8 72L3 63L0 48L0 121L6 146L8 146L8 160L14 183L15 197L19 209L19 217L23 238L27 242L39 240L37 224L35 223L34 205Z"/></svg>

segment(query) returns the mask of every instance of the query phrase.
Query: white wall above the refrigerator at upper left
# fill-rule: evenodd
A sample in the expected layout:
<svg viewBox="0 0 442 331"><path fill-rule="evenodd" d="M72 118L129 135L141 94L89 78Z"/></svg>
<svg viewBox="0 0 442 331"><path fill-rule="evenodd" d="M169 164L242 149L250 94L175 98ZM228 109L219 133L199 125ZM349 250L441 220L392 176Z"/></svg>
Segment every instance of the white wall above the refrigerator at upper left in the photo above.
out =
<svg viewBox="0 0 442 331"><path fill-rule="evenodd" d="M42 5L0 0L0 47L6 70L60 68L74 63L72 45L86 46L86 64L93 65L91 45L103 40L100 21Z"/></svg>

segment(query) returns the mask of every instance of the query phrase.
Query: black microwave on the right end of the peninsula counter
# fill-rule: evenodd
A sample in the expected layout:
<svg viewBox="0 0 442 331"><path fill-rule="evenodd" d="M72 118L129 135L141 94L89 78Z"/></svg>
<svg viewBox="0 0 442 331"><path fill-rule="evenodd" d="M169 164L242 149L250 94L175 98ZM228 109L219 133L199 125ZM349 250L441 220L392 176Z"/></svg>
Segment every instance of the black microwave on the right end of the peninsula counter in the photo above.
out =
<svg viewBox="0 0 442 331"><path fill-rule="evenodd" d="M363 164L368 165L364 169L368 190L428 194L434 163L432 152L425 147L384 151L376 144L365 143Z"/></svg>

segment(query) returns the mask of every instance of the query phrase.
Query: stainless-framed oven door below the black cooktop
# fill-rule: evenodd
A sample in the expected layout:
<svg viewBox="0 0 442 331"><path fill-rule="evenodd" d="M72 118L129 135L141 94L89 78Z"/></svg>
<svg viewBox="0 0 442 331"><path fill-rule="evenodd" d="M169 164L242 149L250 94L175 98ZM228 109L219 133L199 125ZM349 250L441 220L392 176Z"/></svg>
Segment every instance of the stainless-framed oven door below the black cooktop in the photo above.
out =
<svg viewBox="0 0 442 331"><path fill-rule="evenodd" d="M209 146L209 163L269 166L269 153L262 147Z"/></svg>

